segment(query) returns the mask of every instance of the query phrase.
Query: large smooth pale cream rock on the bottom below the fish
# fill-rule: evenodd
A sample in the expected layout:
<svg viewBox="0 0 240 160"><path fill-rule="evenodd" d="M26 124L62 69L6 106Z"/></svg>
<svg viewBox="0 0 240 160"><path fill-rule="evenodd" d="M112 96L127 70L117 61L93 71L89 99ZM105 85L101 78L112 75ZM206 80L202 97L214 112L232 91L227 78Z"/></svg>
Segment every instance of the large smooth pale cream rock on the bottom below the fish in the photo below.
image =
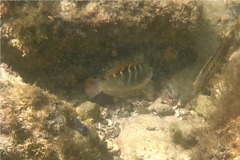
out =
<svg viewBox="0 0 240 160"><path fill-rule="evenodd" d="M118 138L121 157L131 160L190 159L188 150L174 144L169 125L174 117L161 119L151 115L138 115L123 124Z"/></svg>

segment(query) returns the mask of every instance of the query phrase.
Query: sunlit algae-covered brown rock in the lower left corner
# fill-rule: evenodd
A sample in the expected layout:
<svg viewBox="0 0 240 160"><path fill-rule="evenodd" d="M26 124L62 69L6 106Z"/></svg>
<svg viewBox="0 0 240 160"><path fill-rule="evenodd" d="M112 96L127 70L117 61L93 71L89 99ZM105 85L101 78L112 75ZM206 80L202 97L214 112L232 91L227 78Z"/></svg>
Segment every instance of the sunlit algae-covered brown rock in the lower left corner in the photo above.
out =
<svg viewBox="0 0 240 160"><path fill-rule="evenodd" d="M2 160L98 159L101 156L94 130L90 129L84 136L71 126L76 113L70 103L24 83L4 63L0 71Z"/></svg>

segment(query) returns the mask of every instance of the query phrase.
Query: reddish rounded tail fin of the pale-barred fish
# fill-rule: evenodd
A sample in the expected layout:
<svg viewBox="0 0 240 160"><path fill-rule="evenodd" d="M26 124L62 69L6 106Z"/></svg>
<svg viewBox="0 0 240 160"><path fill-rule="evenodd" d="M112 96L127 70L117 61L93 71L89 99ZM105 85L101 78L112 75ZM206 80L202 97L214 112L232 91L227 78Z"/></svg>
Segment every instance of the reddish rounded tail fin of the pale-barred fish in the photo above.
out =
<svg viewBox="0 0 240 160"><path fill-rule="evenodd" d="M102 92L102 90L99 87L100 82L101 82L100 79L93 79L93 78L88 78L85 81L84 89L88 97L94 98L96 95Z"/></svg>

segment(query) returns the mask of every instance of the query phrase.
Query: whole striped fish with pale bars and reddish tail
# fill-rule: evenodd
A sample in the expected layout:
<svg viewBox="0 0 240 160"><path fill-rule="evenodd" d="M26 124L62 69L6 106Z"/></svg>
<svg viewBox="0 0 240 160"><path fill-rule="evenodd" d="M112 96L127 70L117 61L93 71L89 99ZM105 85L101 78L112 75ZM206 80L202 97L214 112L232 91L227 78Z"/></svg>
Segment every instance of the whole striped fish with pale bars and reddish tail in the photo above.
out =
<svg viewBox="0 0 240 160"><path fill-rule="evenodd" d="M126 63L108 70L102 78L85 81L90 98L103 92L109 96L126 97L141 90L151 81L152 68L143 62Z"/></svg>

